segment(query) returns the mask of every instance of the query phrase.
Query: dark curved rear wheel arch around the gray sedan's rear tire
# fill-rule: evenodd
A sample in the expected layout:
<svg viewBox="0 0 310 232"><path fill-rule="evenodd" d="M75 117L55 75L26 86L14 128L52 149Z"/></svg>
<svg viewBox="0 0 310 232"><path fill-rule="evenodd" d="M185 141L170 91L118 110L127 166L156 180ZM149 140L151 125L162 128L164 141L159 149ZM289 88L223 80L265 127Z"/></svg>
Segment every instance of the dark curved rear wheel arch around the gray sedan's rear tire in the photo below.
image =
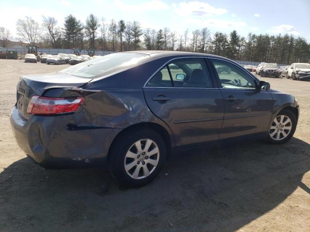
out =
<svg viewBox="0 0 310 232"><path fill-rule="evenodd" d="M128 133L130 131L137 131L137 130L141 130L141 129L151 129L151 130L155 130L157 133L159 133L163 140L164 140L164 143L166 145L166 150L167 150L167 155L166 155L166 158L168 159L172 150L173 150L173 137L172 135L167 131L166 128L164 128L163 126L155 123L155 122L140 122L140 123L137 123L137 124L133 124L133 125L130 125L128 127L126 127L125 129L123 129L122 131L120 131L116 136L115 138L113 139L110 147L109 147L109 152L108 152L108 157L107 157L107 160L109 161L109 157L110 157L110 150L111 150L111 147L113 145L115 145L116 141L121 137L123 136L125 133Z"/></svg>

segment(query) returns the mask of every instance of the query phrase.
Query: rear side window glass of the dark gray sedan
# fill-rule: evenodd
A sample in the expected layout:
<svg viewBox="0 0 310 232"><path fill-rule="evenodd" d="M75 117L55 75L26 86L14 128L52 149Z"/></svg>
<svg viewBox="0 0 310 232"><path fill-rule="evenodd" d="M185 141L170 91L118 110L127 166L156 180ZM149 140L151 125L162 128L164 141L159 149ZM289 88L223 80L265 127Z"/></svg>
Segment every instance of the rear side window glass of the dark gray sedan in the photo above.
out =
<svg viewBox="0 0 310 232"><path fill-rule="evenodd" d="M203 58L184 58L171 61L155 73L146 86L210 88L213 84Z"/></svg>

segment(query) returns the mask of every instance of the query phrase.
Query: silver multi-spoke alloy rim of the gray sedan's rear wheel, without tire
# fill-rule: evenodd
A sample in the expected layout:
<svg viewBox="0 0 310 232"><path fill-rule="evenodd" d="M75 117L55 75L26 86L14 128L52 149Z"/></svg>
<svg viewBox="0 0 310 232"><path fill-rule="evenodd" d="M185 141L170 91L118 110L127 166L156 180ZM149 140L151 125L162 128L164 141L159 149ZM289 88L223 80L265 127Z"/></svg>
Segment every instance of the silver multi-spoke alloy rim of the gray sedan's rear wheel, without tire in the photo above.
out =
<svg viewBox="0 0 310 232"><path fill-rule="evenodd" d="M143 179L155 170L158 161L158 145L151 139L140 139L128 149L124 168L130 177Z"/></svg>

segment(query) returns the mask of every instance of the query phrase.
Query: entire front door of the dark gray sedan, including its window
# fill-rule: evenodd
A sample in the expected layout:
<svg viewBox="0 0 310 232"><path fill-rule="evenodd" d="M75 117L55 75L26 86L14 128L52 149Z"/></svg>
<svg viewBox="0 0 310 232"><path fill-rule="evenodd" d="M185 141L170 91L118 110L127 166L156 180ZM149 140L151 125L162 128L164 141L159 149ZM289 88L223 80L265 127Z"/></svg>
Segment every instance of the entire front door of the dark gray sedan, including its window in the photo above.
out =
<svg viewBox="0 0 310 232"><path fill-rule="evenodd" d="M273 100L259 82L233 62L210 58L224 98L224 120L219 139L263 134L269 129Z"/></svg>

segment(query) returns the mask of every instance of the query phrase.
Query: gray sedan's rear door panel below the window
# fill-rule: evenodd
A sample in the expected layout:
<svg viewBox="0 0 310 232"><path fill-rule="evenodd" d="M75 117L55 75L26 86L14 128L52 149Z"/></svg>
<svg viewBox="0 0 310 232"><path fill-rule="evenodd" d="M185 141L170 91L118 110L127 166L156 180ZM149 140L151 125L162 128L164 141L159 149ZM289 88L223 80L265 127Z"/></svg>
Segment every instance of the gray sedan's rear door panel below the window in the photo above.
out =
<svg viewBox="0 0 310 232"><path fill-rule="evenodd" d="M143 91L151 111L171 128L177 146L217 142L224 114L218 88L144 87ZM157 96L169 100L152 100Z"/></svg>

